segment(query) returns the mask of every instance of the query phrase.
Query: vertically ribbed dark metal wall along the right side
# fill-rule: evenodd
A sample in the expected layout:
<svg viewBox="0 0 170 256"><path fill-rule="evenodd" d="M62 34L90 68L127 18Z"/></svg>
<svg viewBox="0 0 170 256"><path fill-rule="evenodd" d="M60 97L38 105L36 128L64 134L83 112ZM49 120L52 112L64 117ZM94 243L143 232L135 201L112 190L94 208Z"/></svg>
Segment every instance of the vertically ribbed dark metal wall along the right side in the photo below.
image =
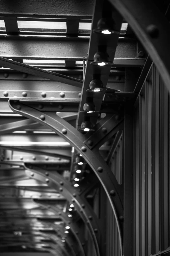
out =
<svg viewBox="0 0 170 256"><path fill-rule="evenodd" d="M153 65L134 108L136 256L170 255L164 251L170 246L169 109L169 93Z"/></svg>

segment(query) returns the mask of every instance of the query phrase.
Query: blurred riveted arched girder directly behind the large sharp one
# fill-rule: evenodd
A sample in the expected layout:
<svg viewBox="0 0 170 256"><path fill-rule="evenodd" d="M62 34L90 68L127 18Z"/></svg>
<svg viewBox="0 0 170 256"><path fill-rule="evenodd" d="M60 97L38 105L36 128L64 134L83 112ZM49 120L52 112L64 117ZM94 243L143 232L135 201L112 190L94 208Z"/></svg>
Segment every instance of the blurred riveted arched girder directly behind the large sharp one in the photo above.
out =
<svg viewBox="0 0 170 256"><path fill-rule="evenodd" d="M29 168L31 167L31 168ZM96 254L99 254L99 247L101 243L101 232L100 226L97 222L97 216L94 214L92 208L85 200L84 197L80 196L78 191L71 186L71 183L66 181L59 173L50 173L39 167L28 164L25 165L25 172L28 177L47 183L50 187L54 189L59 187L60 193L68 200L74 203L74 206L85 222L89 234L91 235L92 241L96 248ZM62 185L61 185L62 184ZM91 218L89 219L89 216ZM70 220L71 223L71 220ZM70 223L68 223L70 225ZM97 231L97 232L96 232Z"/></svg>

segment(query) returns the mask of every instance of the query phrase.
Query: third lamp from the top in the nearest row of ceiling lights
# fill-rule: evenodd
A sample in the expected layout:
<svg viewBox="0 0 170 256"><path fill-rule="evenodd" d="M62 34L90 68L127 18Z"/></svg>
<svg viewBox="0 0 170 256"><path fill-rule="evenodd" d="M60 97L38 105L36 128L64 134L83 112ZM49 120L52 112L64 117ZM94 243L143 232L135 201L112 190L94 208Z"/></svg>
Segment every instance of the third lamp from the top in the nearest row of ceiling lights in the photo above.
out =
<svg viewBox="0 0 170 256"><path fill-rule="evenodd" d="M91 80L89 87L90 88L87 89L89 92L100 92L107 90L106 87L103 87L103 83L100 80L100 74L93 74L93 80Z"/></svg>

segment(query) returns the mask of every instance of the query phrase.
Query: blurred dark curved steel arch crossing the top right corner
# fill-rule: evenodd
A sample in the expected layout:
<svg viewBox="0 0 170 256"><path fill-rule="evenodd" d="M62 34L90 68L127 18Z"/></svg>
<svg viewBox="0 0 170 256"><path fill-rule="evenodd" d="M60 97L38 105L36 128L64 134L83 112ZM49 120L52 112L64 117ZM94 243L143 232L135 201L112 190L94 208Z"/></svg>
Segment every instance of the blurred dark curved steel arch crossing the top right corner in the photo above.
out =
<svg viewBox="0 0 170 256"><path fill-rule="evenodd" d="M170 26L152 0L109 0L131 25L170 91Z"/></svg>

